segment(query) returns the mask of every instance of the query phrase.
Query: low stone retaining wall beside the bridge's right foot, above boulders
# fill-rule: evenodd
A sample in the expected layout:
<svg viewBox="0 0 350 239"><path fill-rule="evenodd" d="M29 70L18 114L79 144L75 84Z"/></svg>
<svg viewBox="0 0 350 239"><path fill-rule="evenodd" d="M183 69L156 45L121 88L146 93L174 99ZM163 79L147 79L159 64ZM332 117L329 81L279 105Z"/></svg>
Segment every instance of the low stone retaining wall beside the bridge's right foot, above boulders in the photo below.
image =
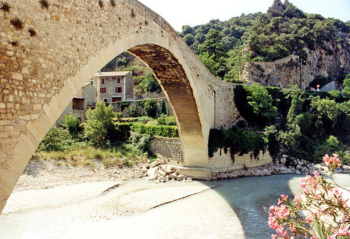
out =
<svg viewBox="0 0 350 239"><path fill-rule="evenodd" d="M150 150L158 158L172 165L183 164L181 142L179 138L155 137L151 143Z"/></svg>

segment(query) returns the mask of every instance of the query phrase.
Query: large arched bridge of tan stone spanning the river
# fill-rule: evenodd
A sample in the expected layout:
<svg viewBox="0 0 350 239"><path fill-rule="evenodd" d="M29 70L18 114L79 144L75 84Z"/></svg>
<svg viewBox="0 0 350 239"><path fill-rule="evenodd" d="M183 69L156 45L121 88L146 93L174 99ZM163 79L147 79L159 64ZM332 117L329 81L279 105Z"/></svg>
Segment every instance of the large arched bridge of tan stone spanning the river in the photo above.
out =
<svg viewBox="0 0 350 239"><path fill-rule="evenodd" d="M236 118L234 85L216 79L164 19L135 0L3 2L0 212L73 96L126 50L151 68L171 104L188 175L210 177L209 130Z"/></svg>

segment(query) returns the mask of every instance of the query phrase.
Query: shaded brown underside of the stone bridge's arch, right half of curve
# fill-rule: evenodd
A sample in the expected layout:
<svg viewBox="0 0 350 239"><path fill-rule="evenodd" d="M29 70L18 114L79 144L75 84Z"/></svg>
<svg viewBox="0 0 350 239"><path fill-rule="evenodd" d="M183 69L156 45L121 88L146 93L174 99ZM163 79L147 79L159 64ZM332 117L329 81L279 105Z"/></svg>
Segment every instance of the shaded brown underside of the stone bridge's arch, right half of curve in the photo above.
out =
<svg viewBox="0 0 350 239"><path fill-rule="evenodd" d="M165 94L174 108L179 123L179 133L185 147L188 148L189 144L192 145L193 149L202 146L204 138L197 103L188 76L179 60L169 50L155 44L134 46L128 51L148 64L165 90ZM184 158L186 161L186 155Z"/></svg>

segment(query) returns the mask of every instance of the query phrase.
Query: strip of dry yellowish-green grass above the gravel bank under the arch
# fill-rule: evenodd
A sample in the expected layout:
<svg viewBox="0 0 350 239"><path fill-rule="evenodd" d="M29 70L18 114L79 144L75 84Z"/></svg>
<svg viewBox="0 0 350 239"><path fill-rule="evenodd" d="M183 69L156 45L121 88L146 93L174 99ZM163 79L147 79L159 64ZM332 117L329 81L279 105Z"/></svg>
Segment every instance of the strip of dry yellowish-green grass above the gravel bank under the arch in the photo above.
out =
<svg viewBox="0 0 350 239"><path fill-rule="evenodd" d="M132 144L122 144L109 149L94 149L91 146L81 146L69 151L36 151L31 161L56 160L56 165L90 166L94 160L100 161L105 168L130 167L135 163L148 160L147 153L137 149Z"/></svg>

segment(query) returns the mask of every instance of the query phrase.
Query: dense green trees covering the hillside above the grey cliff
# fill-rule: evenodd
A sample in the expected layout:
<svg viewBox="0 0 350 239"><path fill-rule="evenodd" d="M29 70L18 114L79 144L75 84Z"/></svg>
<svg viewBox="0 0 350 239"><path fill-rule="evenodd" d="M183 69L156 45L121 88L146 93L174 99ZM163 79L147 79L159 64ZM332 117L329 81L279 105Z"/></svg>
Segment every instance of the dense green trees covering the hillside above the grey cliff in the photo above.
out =
<svg viewBox="0 0 350 239"><path fill-rule="evenodd" d="M350 21L323 18L303 13L293 4L286 5L278 0L267 13L211 20L195 27L186 25L180 35L213 74L234 82L246 62L274 61L291 54L307 60L307 49L316 48L331 55L335 43L349 51L346 39ZM349 72L342 79L346 74Z"/></svg>

